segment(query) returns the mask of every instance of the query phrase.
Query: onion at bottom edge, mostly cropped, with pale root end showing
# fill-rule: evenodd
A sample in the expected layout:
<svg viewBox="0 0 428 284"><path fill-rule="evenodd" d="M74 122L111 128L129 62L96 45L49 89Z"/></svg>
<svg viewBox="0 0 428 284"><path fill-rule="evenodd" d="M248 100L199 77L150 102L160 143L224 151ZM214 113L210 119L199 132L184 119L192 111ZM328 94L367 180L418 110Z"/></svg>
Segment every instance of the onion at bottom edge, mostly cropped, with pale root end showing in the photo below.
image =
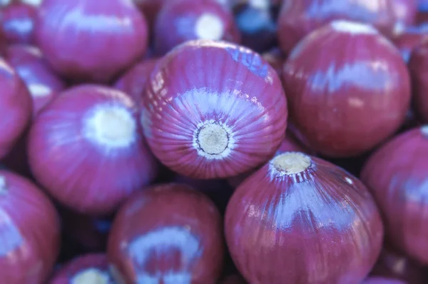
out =
<svg viewBox="0 0 428 284"><path fill-rule="evenodd" d="M103 253L81 255L60 268L49 284L115 284Z"/></svg>

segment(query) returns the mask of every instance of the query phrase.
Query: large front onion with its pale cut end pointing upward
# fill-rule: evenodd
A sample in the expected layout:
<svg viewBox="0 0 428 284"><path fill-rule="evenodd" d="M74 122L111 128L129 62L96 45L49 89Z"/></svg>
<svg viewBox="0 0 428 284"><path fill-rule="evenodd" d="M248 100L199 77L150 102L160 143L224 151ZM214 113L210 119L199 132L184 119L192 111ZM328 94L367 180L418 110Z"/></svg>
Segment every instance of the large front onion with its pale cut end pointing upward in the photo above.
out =
<svg viewBox="0 0 428 284"><path fill-rule="evenodd" d="M286 152L236 189L225 235L249 283L360 284L383 230L361 181L320 158Z"/></svg>

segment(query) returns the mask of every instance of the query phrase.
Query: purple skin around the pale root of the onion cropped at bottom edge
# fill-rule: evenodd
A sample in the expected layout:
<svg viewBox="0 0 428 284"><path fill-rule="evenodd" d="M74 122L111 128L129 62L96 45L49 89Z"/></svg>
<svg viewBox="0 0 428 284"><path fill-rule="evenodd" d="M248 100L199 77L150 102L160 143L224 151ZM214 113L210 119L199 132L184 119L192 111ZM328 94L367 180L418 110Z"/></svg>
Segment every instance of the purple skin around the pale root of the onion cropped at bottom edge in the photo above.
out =
<svg viewBox="0 0 428 284"><path fill-rule="evenodd" d="M84 273L86 270L97 270L106 276L106 283L103 284L115 284L113 277L110 275L108 270L108 259L104 253L91 253L87 255L81 255L59 268L55 273L54 277L49 281L49 284L69 284L78 273ZM86 282L88 283L88 282ZM81 284L84 284L82 282ZM91 284L91 283L88 283Z"/></svg>

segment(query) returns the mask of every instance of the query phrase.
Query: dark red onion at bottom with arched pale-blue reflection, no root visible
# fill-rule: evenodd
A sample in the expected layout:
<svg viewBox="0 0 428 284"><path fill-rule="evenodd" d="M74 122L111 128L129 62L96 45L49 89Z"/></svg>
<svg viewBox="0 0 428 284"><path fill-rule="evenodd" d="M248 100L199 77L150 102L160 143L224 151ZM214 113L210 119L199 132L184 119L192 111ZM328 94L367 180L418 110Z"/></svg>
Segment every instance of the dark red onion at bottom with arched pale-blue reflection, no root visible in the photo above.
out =
<svg viewBox="0 0 428 284"><path fill-rule="evenodd" d="M123 283L214 284L223 265L221 227L202 193L179 183L153 186L119 210L108 258Z"/></svg>

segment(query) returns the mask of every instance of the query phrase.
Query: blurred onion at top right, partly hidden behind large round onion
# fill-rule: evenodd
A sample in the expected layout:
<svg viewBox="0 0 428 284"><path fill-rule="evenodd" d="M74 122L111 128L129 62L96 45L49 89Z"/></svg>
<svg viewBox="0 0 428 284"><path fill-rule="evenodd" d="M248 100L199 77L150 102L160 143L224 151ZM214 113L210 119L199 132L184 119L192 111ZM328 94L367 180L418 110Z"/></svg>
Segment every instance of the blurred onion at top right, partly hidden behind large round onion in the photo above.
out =
<svg viewBox="0 0 428 284"><path fill-rule="evenodd" d="M373 24L392 34L396 16L395 0L284 0L278 20L282 51L290 52L311 31L336 19Z"/></svg>

